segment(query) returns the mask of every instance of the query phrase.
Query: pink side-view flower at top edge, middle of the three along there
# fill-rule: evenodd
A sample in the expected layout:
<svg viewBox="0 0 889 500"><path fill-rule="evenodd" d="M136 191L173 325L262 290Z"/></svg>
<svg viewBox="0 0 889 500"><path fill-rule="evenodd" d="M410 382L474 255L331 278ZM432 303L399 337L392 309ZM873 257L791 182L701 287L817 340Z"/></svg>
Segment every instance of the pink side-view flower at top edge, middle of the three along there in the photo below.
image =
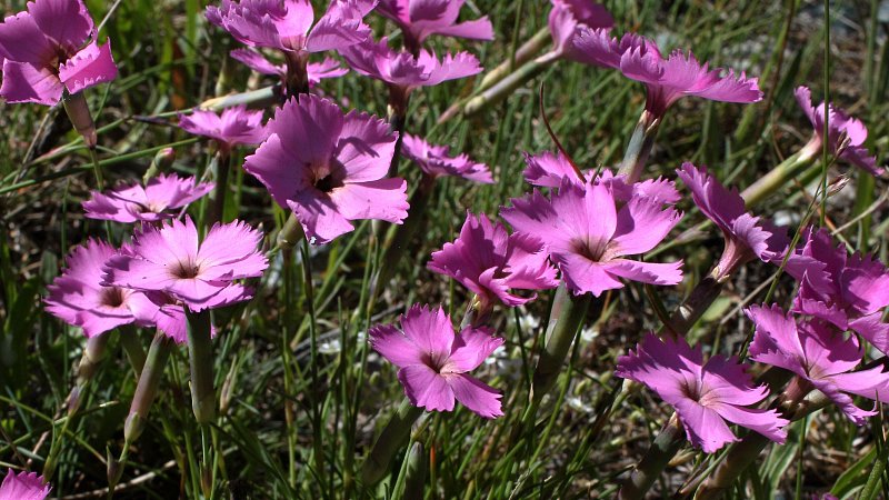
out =
<svg viewBox="0 0 889 500"><path fill-rule="evenodd" d="M487 16L457 22L465 0L381 0L377 12L401 28L404 47L418 53L423 41L432 34L493 40L493 27Z"/></svg>

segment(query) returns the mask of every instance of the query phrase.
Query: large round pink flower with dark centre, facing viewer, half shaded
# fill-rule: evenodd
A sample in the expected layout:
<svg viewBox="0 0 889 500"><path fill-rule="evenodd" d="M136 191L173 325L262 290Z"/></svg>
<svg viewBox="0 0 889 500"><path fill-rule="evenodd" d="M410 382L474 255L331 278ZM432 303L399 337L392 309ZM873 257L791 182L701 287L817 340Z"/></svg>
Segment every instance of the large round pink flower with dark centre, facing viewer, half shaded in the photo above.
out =
<svg viewBox="0 0 889 500"><path fill-rule="evenodd" d="M343 116L332 101L303 96L278 109L269 130L243 168L296 213L316 243L353 230L352 220L401 223L408 217L407 182L386 178L396 134L384 121Z"/></svg>

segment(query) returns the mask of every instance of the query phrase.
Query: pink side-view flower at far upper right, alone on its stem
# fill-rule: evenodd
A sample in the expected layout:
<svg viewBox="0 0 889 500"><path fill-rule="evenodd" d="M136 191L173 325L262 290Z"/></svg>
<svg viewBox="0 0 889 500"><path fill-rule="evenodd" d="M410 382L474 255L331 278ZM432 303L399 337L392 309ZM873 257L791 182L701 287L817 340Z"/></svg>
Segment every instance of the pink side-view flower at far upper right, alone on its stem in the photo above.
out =
<svg viewBox="0 0 889 500"><path fill-rule="evenodd" d="M803 153L816 156L821 152L825 141L825 103L812 107L812 93L807 87L797 87L793 92L797 102L815 129L812 138L803 148ZM870 154L863 143L868 138L868 129L861 120L850 117L846 111L835 108L833 104L827 106L828 126L828 148L833 154L840 148L843 140L848 143L840 152L839 158L855 164L856 167L869 172L871 176L879 176L883 172L882 167L877 167L877 157Z"/></svg>

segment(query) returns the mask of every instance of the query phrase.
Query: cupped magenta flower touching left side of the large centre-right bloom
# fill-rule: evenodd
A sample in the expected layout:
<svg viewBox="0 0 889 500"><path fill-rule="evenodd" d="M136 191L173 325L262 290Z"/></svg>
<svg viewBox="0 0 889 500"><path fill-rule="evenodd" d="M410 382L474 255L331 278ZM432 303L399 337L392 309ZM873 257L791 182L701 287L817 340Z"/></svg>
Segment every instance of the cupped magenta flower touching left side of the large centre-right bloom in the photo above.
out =
<svg viewBox="0 0 889 500"><path fill-rule="evenodd" d="M509 234L483 213L467 212L460 237L432 253L429 269L449 276L488 304L499 300L520 306L537 298L519 297L510 289L545 290L559 284L556 269L547 261L543 243L532 236Z"/></svg>

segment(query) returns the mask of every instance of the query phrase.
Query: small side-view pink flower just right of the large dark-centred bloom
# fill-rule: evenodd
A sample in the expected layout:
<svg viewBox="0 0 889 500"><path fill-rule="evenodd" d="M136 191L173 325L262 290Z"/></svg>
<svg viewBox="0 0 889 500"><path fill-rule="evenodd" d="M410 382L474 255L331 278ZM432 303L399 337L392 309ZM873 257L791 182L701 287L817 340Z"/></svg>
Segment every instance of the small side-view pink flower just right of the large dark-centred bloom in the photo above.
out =
<svg viewBox="0 0 889 500"><path fill-rule="evenodd" d="M477 163L466 154L451 157L449 147L430 144L417 136L404 134L401 154L420 166L423 173L432 178L453 176L486 184L493 183L487 164Z"/></svg>

